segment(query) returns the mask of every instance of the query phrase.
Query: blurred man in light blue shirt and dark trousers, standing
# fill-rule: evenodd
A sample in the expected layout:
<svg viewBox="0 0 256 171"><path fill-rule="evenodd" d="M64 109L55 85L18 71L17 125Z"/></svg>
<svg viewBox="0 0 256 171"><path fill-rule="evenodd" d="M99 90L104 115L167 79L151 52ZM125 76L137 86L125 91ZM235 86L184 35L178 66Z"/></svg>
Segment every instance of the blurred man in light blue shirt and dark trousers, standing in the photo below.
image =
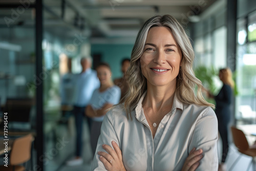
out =
<svg viewBox="0 0 256 171"><path fill-rule="evenodd" d="M96 71L92 70L92 58L81 58L82 72L75 75L75 94L74 94L74 115L76 123L76 157L67 162L68 165L82 164L82 121L86 106L91 99L95 89L99 88L100 82ZM90 119L87 118L89 128L91 127Z"/></svg>

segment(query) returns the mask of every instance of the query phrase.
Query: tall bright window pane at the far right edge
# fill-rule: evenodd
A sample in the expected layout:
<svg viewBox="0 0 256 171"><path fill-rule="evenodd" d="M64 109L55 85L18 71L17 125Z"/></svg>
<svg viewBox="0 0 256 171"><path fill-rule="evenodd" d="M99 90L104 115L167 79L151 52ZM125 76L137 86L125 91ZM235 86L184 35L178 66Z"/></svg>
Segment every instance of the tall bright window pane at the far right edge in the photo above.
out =
<svg viewBox="0 0 256 171"><path fill-rule="evenodd" d="M248 22L248 24L247 24ZM248 28L246 28L248 26ZM236 97L238 125L256 123L256 13L237 22ZM247 37L248 36L248 37ZM246 41L248 39L248 41Z"/></svg>

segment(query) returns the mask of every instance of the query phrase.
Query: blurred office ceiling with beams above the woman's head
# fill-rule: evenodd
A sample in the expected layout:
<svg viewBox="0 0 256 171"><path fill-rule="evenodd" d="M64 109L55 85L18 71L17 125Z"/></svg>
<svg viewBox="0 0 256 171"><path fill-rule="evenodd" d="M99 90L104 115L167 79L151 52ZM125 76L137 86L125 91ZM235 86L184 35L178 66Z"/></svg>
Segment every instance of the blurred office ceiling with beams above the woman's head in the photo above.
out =
<svg viewBox="0 0 256 171"><path fill-rule="evenodd" d="M136 37L141 25L151 16L171 14L185 25L189 20L195 19L190 15L199 15L215 2L216 0L44 0L44 26L56 34L67 36L74 36L78 31L95 41L120 37L129 39ZM1 8L7 4L20 3L19 0L0 0L1 27L6 27L4 17L11 18L13 11L17 12L17 8ZM19 12L16 19L9 21L11 27L34 26L34 9Z"/></svg>

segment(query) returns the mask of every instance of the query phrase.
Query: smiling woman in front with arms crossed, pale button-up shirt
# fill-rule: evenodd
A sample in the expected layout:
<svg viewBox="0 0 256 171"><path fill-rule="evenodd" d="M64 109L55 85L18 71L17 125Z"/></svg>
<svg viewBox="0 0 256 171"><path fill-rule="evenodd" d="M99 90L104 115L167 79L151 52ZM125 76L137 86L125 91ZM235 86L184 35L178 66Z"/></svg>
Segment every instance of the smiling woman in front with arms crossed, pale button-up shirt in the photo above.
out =
<svg viewBox="0 0 256 171"><path fill-rule="evenodd" d="M144 23L127 70L129 92L103 120L92 170L218 169L217 118L193 60L174 17Z"/></svg>

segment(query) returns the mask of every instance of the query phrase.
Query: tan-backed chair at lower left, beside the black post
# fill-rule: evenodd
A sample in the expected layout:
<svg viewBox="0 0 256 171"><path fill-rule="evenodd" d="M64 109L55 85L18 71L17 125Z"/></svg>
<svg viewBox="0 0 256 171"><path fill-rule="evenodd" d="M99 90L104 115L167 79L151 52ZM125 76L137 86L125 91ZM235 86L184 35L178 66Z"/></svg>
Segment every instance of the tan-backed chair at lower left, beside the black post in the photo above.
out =
<svg viewBox="0 0 256 171"><path fill-rule="evenodd" d="M23 171L26 168L20 164L23 164L31 158L31 144L33 136L31 134L16 138L13 141L11 154L10 154L10 165L0 166L1 171Z"/></svg>

